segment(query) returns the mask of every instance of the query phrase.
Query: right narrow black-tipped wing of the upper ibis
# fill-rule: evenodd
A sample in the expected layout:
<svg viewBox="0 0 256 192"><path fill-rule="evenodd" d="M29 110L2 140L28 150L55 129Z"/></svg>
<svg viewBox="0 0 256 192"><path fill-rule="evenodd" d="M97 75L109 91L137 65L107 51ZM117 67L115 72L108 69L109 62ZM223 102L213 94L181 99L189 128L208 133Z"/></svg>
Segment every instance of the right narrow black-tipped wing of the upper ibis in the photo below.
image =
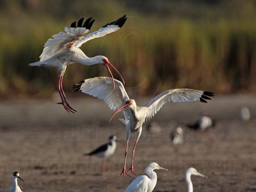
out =
<svg viewBox="0 0 256 192"><path fill-rule="evenodd" d="M118 29L122 28L126 19L127 17L126 15L124 15L123 17L120 17L119 19L113 22L109 22L108 24L102 26L98 31L94 31L93 33L90 33L84 36L79 41L77 41L76 47L81 47L82 44L84 44L85 42L88 42L89 40L92 40L93 38L99 38L109 33L113 33L117 31Z"/></svg>

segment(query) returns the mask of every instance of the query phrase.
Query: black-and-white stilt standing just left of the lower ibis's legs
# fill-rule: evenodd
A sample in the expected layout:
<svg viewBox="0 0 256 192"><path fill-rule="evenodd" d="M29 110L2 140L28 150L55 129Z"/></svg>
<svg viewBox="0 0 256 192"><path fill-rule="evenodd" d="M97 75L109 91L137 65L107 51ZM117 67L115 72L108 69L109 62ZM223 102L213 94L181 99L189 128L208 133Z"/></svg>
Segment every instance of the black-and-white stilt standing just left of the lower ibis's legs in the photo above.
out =
<svg viewBox="0 0 256 192"><path fill-rule="evenodd" d="M104 145L100 145L100 147L96 148L92 152L88 154L84 154L84 156L95 156L102 158L102 177L105 179L105 171L106 171L106 158L112 156L116 150L116 136L109 136L108 143Z"/></svg>

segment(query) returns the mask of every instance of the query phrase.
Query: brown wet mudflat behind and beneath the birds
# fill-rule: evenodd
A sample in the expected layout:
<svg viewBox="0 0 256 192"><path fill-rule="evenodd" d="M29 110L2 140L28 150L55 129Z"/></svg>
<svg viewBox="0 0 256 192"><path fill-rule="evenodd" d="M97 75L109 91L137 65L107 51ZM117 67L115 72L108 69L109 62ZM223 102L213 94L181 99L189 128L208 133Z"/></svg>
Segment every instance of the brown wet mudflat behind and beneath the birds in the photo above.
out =
<svg viewBox="0 0 256 192"><path fill-rule="evenodd" d="M147 99L140 99L140 103ZM58 102L58 101L57 101ZM26 191L124 191L135 178L118 177L125 149L125 128L104 102L90 97L70 99L76 114L67 113L56 100L9 100L0 103L0 191L8 191L12 172L20 172ZM248 106L252 118L239 119ZM201 111L216 119L206 132L186 129L183 145L173 146L170 132L177 122L193 122ZM166 104L151 121L162 127L158 134L143 129L135 153L135 170L143 174L157 162L168 172L156 171L154 191L186 191L184 172L189 166L208 176L192 177L195 191L256 191L255 95L214 97L209 104ZM102 180L101 159L84 157L115 134L120 142L107 161ZM127 167L131 163L132 135Z"/></svg>

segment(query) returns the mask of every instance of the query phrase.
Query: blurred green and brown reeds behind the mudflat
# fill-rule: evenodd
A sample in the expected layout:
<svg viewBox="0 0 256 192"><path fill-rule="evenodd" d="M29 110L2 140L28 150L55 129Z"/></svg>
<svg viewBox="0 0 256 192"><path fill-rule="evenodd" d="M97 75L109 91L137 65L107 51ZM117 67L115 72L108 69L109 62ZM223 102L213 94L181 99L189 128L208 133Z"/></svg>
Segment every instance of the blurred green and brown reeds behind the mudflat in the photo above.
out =
<svg viewBox="0 0 256 192"><path fill-rule="evenodd" d="M256 2L0 1L0 97L49 97L55 70L28 67L44 43L74 20L94 17L92 31L126 14L124 27L81 49L104 55L141 95L170 88L216 93L256 92ZM118 78L117 74L114 74ZM109 76L95 65L70 65L66 92L81 79Z"/></svg>

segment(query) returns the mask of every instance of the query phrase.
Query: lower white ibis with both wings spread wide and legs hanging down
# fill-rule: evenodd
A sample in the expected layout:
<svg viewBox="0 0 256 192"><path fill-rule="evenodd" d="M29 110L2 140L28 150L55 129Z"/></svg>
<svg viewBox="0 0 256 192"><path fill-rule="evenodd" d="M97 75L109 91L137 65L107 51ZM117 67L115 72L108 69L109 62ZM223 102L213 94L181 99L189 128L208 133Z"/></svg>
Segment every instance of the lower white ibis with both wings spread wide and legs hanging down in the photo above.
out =
<svg viewBox="0 0 256 192"><path fill-rule="evenodd" d="M191 89L174 89L166 90L165 92L154 97L148 104L143 107L136 105L135 100L129 99L124 85L115 79L115 84L117 85L115 90L113 90L113 82L109 77L94 77L90 79L84 79L83 81L74 84L74 92L81 90L83 93L97 97L98 99L104 100L108 104L110 109L113 109L115 113L111 115L109 121L118 113L119 111L124 110L124 119L120 119L121 122L125 124L126 129L126 148L125 148L125 160L124 160L124 169L120 175L128 175L125 170L126 157L127 157L127 147L131 132L135 133L136 142L132 149L132 163L131 163L131 173L136 175L133 167L134 160L134 151L137 145L137 142L140 138L142 125L143 123L152 118L157 111L159 111L166 102L187 102L187 101L200 101L207 102L207 99L214 96L214 93L204 92L200 90L191 90Z"/></svg>

